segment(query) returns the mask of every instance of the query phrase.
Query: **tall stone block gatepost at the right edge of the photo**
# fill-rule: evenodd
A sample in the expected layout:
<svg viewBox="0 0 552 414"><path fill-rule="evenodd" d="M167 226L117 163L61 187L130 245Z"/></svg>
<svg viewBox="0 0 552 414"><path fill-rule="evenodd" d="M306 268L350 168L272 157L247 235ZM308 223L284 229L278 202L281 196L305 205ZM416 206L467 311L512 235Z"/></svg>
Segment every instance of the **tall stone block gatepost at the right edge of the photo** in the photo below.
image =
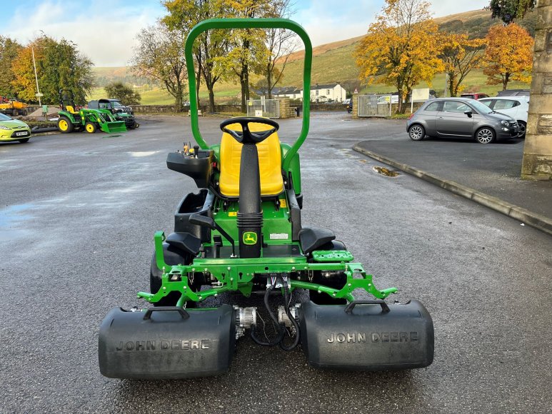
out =
<svg viewBox="0 0 552 414"><path fill-rule="evenodd" d="M539 0L521 178L552 180L552 0Z"/></svg>

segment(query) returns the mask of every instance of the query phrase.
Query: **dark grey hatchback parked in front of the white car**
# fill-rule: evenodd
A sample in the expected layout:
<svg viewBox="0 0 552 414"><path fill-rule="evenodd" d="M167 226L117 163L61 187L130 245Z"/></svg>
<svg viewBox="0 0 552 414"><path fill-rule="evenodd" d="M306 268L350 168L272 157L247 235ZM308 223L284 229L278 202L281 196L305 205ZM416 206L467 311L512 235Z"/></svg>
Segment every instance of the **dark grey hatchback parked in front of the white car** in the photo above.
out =
<svg viewBox="0 0 552 414"><path fill-rule="evenodd" d="M475 138L479 143L516 138L518 122L493 111L475 99L431 99L414 112L406 123L413 141L428 136Z"/></svg>

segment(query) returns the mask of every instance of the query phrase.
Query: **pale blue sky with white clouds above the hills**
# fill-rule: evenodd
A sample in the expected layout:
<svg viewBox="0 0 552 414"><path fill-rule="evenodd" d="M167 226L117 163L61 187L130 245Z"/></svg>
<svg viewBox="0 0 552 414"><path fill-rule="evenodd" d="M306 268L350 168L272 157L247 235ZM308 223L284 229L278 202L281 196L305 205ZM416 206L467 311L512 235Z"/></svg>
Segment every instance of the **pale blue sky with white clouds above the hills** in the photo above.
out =
<svg viewBox="0 0 552 414"><path fill-rule="evenodd" d="M483 9L488 0L430 0L435 17ZM8 6L9 4L9 6ZM383 0L296 0L293 20L314 46L366 33ZM96 66L125 66L138 31L164 16L158 0L14 0L2 4L0 34L26 44L41 34L74 41Z"/></svg>

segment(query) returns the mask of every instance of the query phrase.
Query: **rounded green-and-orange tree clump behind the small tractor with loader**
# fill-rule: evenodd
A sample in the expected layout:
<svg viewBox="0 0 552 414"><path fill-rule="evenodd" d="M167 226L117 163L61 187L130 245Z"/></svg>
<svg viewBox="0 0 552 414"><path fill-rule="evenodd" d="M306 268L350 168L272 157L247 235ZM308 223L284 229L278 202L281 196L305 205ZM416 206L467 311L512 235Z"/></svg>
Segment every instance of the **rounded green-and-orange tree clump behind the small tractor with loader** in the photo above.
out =
<svg viewBox="0 0 552 414"><path fill-rule="evenodd" d="M40 91L44 94L42 101L56 104L59 90L71 89L75 103L85 104L86 94L94 86L92 62L79 52L72 41L56 41L44 34L22 48L11 64L14 72L11 85L18 91L19 98L36 101L33 49Z"/></svg>

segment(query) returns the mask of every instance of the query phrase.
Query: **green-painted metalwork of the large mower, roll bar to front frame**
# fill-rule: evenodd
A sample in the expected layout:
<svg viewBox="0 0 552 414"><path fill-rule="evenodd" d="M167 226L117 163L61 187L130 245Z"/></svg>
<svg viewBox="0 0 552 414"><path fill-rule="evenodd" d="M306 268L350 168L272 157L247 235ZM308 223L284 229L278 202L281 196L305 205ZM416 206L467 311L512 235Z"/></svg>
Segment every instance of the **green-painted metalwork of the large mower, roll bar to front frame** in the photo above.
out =
<svg viewBox="0 0 552 414"><path fill-rule="evenodd" d="M202 21L191 29L186 39L186 64L189 77L189 90L196 90L196 78L194 72L194 56L192 46L197 37L204 31L211 29L245 29L245 28L281 28L294 31L303 40L305 45L305 63L303 66L303 90L311 89L311 63L312 46L306 31L294 21L288 19L209 19ZM191 130L198 145L203 149L213 149L217 154L219 145L209 146L204 141L199 131L199 117L196 99L190 100ZM296 193L301 192L301 178L299 171L298 149L308 135L310 117L310 101L303 99L303 123L301 132L292 146L282 145L282 169L292 172L293 187ZM284 201L281 199L281 201ZM285 200L289 202L288 200ZM235 204L235 201L234 201ZM236 240L236 229L231 226L235 221L237 205L230 205L227 208L218 208L216 218L217 223L226 232ZM291 241L291 224L288 221L288 213L280 211L279 208L271 206L271 203L264 202L263 211L265 223L270 231L276 233L288 234L286 242L266 241L268 244L297 244ZM213 230L211 240L214 234ZM295 273L297 278L288 278L289 286L293 291L296 288L318 291L326 293L332 298L344 298L347 301L354 301L352 292L357 289L363 289L378 299L384 299L391 293L396 293L396 288L387 288L378 290L372 281L372 275L364 271L361 263L352 263L353 256L348 251L314 251L313 261L308 262L305 256L282 256L282 257L260 257L260 258L194 258L190 265L179 264L176 266L167 265L164 261L165 234L158 231L154 236L155 243L155 262L157 268L163 273L161 276L161 288L156 293L139 292L137 296L144 298L150 303L156 303L171 292L181 293L181 298L176 306L184 306L187 301L204 301L210 296L218 296L219 293L226 291L240 291L244 296L250 296L254 287L254 278L256 276L271 276L272 274L286 275L288 278L291 273ZM223 240L225 246L229 242ZM213 243L204 243L204 246L213 246ZM312 283L313 271L342 271L347 276L347 281L342 288L330 288L319 283ZM189 275L194 273L210 273L219 282L218 286L213 286L204 291L194 292L189 285Z"/></svg>

